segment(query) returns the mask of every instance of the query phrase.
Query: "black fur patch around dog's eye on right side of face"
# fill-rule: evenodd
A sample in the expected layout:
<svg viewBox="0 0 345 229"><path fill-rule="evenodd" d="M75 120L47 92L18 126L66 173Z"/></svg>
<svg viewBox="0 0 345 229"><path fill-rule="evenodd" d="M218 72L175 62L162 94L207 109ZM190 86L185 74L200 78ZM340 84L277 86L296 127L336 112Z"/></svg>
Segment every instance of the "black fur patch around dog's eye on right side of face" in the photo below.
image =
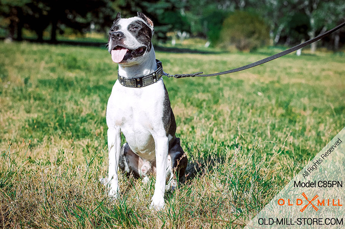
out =
<svg viewBox="0 0 345 229"><path fill-rule="evenodd" d="M152 31L148 25L138 20L128 25L127 30L135 37L140 43L147 47L147 52L151 50Z"/></svg>

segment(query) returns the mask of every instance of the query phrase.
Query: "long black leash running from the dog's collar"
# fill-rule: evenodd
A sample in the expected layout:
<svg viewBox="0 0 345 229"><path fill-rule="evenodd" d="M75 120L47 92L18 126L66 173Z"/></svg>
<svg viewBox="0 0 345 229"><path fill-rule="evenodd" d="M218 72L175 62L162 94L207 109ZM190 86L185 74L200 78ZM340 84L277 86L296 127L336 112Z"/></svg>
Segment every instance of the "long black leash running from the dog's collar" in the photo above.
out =
<svg viewBox="0 0 345 229"><path fill-rule="evenodd" d="M270 57L267 57L265 59L262 59L262 60L259 60L257 62L254 62L254 63L251 63L251 64L248 64L248 65L245 65L245 66L242 66L240 68L236 68L236 69L232 69L232 70L228 70L228 71L225 71L225 72L220 72L220 73L213 73L213 74L208 74L208 75L200 75L200 74L203 74L203 72L199 72L199 73L192 73L192 74L176 74L176 75L170 75L170 74L167 74L167 73L164 73L164 75L168 76L168 77L175 77L175 78L183 78L183 77L194 77L194 76L200 76L200 77L207 77L207 76L220 76L220 75L224 75L224 74L229 74L229 73L236 73L236 72L240 72L242 70L245 70L245 69L250 69L250 68L253 68L255 66L258 66L258 65L261 65L261 64L264 64L266 62L269 62L271 60L274 60L276 58L279 58L279 57L282 57L282 56L285 56L286 54L289 54L291 52L294 52L300 48L303 48L319 39L322 39L328 35L330 35L331 33L339 30L340 28L342 28L343 26L345 26L345 22L340 24L339 26L337 27L334 27L333 29L325 32L324 34L321 34L315 38L312 38L310 40L307 40L306 42L302 43L302 44L299 44L299 45L296 45L292 48L289 48L285 51L282 51L282 52L279 52L273 56L270 56Z"/></svg>

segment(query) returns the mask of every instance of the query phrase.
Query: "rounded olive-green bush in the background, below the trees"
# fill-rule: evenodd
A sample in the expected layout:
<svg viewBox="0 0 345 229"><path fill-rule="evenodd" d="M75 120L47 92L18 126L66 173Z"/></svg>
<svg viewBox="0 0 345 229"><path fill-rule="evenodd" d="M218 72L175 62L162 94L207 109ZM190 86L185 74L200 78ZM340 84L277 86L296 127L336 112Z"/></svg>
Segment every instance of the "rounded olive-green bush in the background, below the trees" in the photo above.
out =
<svg viewBox="0 0 345 229"><path fill-rule="evenodd" d="M258 15L236 11L224 20L220 44L224 47L235 45L237 49L252 50L268 44L269 27Z"/></svg>

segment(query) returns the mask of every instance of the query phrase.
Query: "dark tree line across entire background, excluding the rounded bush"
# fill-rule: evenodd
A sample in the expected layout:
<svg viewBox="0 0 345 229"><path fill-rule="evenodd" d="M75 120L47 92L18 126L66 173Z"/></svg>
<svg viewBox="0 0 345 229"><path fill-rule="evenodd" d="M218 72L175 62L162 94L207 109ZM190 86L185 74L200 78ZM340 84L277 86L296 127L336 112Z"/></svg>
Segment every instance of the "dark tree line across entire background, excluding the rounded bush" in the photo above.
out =
<svg viewBox="0 0 345 229"><path fill-rule="evenodd" d="M106 35L117 12L129 17L141 11L153 20L155 38L159 41L166 41L168 32L179 31L192 38L207 38L215 46L224 19L236 10L252 11L261 17L269 27L273 44L292 45L343 22L345 3L344 0L0 0L0 33L21 40L22 29L26 28L35 31L40 41L48 31L51 41L56 40L56 34L71 30L81 35L90 31ZM345 42L344 31L322 44L338 49ZM316 43L311 48L314 50Z"/></svg>

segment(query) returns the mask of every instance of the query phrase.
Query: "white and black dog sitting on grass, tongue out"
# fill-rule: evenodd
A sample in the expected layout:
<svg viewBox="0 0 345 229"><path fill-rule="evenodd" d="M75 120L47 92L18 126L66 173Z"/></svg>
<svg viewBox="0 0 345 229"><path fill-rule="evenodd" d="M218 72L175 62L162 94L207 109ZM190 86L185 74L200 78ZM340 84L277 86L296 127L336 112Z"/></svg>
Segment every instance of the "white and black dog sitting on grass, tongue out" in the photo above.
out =
<svg viewBox="0 0 345 229"><path fill-rule="evenodd" d="M175 189L187 167L187 157L175 136L176 122L163 68L151 42L153 22L143 13L116 15L109 31L108 51L118 63L106 109L109 149L109 196L118 197L118 168L148 181L156 175L151 208L164 208L164 194ZM121 132L126 143L121 146ZM176 177L177 174L177 177Z"/></svg>

